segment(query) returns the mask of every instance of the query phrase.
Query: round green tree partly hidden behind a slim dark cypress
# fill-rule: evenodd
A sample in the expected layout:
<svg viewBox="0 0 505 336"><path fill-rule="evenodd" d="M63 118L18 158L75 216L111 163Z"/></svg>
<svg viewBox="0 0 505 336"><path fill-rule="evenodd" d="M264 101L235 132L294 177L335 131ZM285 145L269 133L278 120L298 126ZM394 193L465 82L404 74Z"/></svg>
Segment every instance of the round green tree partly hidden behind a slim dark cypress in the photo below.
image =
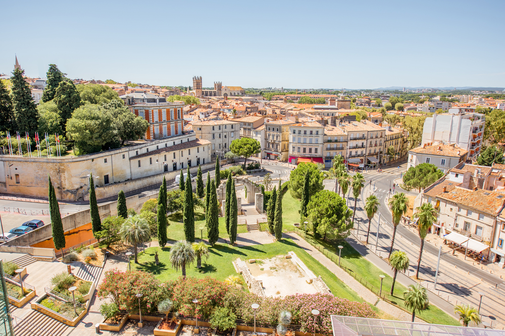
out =
<svg viewBox="0 0 505 336"><path fill-rule="evenodd" d="M323 190L323 173L317 169L315 163L299 163L289 175L289 190L293 198L300 199L304 190L305 175L309 173L309 194L313 195L319 190Z"/></svg>

